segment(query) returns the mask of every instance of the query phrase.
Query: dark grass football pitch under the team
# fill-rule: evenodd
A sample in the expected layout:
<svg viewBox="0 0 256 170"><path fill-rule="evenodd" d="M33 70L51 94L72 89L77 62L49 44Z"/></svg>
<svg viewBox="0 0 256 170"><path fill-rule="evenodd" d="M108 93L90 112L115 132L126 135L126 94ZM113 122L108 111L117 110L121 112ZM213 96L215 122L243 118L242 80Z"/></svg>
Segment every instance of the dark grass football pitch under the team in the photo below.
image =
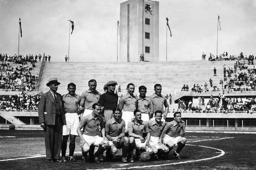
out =
<svg viewBox="0 0 256 170"><path fill-rule="evenodd" d="M21 130L0 130L0 136L15 136L16 138L0 138L0 160L24 158L31 156L45 155L45 145L43 131L21 131ZM63 169L63 170L81 170L81 169L107 169L107 168L132 168L136 169L206 169L206 170L254 170L256 169L256 135L255 134L209 134L209 133L186 133L187 144L181 153L180 157L182 161L177 161L172 153L176 147L170 152L168 160L141 162L134 161L133 163L121 164L120 161L116 162L102 162L101 164L84 163L81 160L82 154L74 154L74 158L77 162L65 162L65 163L53 163L49 164L45 157L19 159L11 161L0 161L0 169L21 169L21 170L33 170L33 169ZM219 140L220 138L234 137ZM217 140L218 139L218 140ZM193 142L199 141L199 142ZM81 152L80 138L76 138L75 152ZM211 148L204 148L200 145L211 148L221 149L225 154L221 157L197 161L201 159L211 158L221 154L221 151ZM67 145L68 146L68 145ZM95 149L98 149L97 147ZM67 155L68 155L67 148ZM121 152L117 153L118 158L121 158ZM104 159L106 155L104 154ZM165 165L178 162L187 162L177 165ZM194 162L193 162L194 161ZM151 166L153 167L143 167ZM143 167L143 168L140 168ZM134 169L134 168L132 168Z"/></svg>

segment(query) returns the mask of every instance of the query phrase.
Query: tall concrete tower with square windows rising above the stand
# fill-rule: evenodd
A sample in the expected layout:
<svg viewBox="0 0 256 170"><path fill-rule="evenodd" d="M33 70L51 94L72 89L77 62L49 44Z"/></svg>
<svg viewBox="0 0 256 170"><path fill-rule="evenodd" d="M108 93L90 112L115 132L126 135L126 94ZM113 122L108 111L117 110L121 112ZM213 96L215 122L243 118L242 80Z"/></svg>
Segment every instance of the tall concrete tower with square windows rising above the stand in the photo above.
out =
<svg viewBox="0 0 256 170"><path fill-rule="evenodd" d="M159 59L159 2L128 0L120 4L120 62Z"/></svg>

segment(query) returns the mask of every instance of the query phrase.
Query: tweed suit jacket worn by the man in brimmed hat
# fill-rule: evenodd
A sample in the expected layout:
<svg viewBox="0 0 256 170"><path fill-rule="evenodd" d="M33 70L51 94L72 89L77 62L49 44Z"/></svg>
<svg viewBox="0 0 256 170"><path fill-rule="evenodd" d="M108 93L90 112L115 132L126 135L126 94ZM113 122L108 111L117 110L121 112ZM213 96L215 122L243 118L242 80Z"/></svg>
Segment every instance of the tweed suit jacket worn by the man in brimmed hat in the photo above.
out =
<svg viewBox="0 0 256 170"><path fill-rule="evenodd" d="M66 117L64 114L64 106L62 102L61 94L56 92L56 97L60 101L61 105L61 122L63 125L66 124ZM57 113L57 107L55 103L55 99L50 91L42 94L39 106L38 106L38 118L39 123L45 122L46 125L54 125L55 124L55 114Z"/></svg>

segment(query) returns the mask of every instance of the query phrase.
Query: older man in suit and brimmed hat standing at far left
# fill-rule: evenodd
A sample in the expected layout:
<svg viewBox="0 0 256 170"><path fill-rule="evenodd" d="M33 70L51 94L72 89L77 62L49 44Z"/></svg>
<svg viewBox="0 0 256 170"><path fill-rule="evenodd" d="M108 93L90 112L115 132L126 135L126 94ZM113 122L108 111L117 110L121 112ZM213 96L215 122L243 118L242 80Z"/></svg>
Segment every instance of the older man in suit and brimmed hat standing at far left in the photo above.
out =
<svg viewBox="0 0 256 170"><path fill-rule="evenodd" d="M57 78L52 77L46 84L50 90L42 94L38 106L40 126L44 130L46 158L49 163L62 162L60 158L62 142L62 125L66 125L66 118L61 94L57 93Z"/></svg>

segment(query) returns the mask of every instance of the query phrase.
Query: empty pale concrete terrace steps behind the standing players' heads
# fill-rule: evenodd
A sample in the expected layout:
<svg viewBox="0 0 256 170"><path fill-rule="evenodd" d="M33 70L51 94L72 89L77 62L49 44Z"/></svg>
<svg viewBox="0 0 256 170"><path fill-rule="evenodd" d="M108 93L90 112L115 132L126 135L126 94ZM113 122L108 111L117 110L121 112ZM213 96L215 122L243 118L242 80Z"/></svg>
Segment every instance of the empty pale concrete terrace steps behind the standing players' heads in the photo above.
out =
<svg viewBox="0 0 256 170"><path fill-rule="evenodd" d="M135 93L138 93L138 87L144 85L147 87L147 95L154 93L154 85L162 85L162 94L174 95L175 89L181 91L183 84L189 85L189 90L193 84L204 85L207 82L209 87L209 78L213 80L213 86L219 86L219 81L223 80L223 66L232 67L234 70L234 61L174 61L174 62L46 62L39 90L46 92L49 88L46 86L50 77L57 77L61 82L58 88L60 94L67 93L67 84L74 82L77 86L76 93L81 94L88 89L88 81L95 79L97 81L97 90L104 93L103 86L106 82L114 80L121 86L121 92L118 95L126 93L128 83L135 84ZM217 69L217 76L213 76L214 67ZM253 68L249 65L248 68ZM244 71L243 71L244 72ZM246 71L247 72L247 71ZM116 87L116 89L117 89Z"/></svg>

